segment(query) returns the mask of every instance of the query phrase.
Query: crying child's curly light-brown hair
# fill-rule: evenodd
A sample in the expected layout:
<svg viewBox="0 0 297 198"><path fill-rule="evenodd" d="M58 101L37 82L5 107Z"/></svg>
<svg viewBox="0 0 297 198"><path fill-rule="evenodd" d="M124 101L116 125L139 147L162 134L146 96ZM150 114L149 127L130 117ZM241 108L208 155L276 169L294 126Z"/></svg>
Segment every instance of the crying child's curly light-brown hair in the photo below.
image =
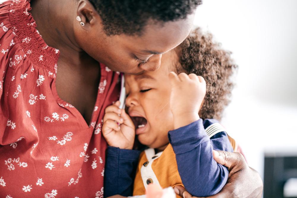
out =
<svg viewBox="0 0 297 198"><path fill-rule="evenodd" d="M202 34L196 28L177 48L179 57L177 72L194 73L206 81L206 96L199 112L201 118L220 120L224 108L230 102L234 83L230 77L237 65L230 58L231 52L222 50L212 35Z"/></svg>

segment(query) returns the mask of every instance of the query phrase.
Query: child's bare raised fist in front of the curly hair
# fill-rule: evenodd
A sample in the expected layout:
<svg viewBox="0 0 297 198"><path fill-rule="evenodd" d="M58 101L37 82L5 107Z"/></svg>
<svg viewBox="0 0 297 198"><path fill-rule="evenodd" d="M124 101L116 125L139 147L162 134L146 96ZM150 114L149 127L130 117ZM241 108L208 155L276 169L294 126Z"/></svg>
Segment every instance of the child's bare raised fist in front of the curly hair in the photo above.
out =
<svg viewBox="0 0 297 198"><path fill-rule="evenodd" d="M198 112L206 94L206 82L195 74L170 72L170 108L174 118L174 128L186 126L199 119Z"/></svg>

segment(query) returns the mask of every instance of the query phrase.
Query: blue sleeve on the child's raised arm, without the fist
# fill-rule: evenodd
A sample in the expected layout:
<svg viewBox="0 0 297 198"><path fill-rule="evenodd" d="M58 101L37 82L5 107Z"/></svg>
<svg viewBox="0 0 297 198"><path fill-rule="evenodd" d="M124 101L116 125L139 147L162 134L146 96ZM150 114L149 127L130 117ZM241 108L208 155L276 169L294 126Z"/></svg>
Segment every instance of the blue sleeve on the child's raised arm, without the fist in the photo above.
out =
<svg viewBox="0 0 297 198"><path fill-rule="evenodd" d="M207 120L209 121L209 120ZM199 119L187 126L168 133L176 154L178 172L185 189L197 197L217 194L228 179L228 168L218 164L213 150L233 152L226 132L209 138Z"/></svg>

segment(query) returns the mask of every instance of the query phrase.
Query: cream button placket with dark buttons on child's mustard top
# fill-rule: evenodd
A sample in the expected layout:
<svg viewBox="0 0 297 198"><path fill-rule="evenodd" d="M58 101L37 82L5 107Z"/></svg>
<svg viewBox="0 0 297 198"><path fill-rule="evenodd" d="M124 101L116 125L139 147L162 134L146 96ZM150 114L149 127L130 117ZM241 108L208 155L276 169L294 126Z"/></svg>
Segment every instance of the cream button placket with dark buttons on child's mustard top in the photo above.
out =
<svg viewBox="0 0 297 198"><path fill-rule="evenodd" d="M163 152L159 152L155 154L155 150L153 148L146 149L145 151L146 159L148 160L145 165L142 165L140 168L140 174L143 181L144 188L146 189L149 183L154 183L158 186L160 186L160 183L157 179L157 176L154 173L154 170L152 169L151 165L153 162L158 159ZM160 186L161 187L161 186Z"/></svg>

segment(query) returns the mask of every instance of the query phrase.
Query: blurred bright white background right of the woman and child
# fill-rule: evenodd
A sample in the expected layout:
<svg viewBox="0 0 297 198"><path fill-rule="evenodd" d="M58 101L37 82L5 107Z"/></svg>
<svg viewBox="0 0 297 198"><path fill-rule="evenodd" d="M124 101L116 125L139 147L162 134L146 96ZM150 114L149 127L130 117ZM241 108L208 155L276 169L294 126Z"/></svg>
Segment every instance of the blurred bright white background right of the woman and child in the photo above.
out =
<svg viewBox="0 0 297 198"><path fill-rule="evenodd" d="M195 16L239 66L222 124L260 173L264 197L297 197L296 8L296 0L207 0Z"/></svg>

